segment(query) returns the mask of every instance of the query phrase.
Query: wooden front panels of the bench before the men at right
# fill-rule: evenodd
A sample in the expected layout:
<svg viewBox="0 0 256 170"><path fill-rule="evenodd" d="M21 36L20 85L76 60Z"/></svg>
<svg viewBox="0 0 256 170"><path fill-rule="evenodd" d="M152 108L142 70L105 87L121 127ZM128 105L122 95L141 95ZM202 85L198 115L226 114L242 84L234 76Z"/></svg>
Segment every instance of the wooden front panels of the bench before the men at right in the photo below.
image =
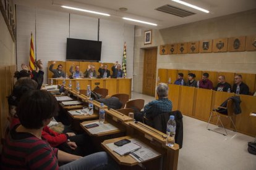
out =
<svg viewBox="0 0 256 170"><path fill-rule="evenodd" d="M234 93L218 92L208 89L197 89L195 87L179 86L168 84L168 98L173 102L173 110L180 110L183 115L192 118L208 121L210 111L215 106L219 106L228 97L234 96ZM233 116L233 121L237 131L242 134L255 137L256 135L256 119L249 116L251 112L256 111L256 97L252 95L239 95L241 99L242 113ZM225 118L221 118L225 127L232 127L231 122ZM211 123L216 124L217 119L212 119ZM205 130L206 127L205 127Z"/></svg>

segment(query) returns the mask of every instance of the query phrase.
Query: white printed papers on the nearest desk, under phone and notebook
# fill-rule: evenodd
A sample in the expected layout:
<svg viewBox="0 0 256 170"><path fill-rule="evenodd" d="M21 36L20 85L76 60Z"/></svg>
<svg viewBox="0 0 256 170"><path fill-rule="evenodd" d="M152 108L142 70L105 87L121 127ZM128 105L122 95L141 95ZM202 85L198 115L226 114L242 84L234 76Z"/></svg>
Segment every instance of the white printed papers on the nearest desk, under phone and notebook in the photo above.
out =
<svg viewBox="0 0 256 170"><path fill-rule="evenodd" d="M143 142L141 142L139 139L129 139L132 143L139 145L141 148L139 148L139 150L129 153L130 156L132 156L132 158L134 158L135 160L137 160L138 162L142 162L142 161L147 161L150 160L151 158L155 158L156 156L161 155L160 153L156 152L155 150L153 150L153 148L149 147L148 145L144 144ZM114 143L111 144L106 144L111 150L114 150L116 148L118 148L118 146L114 145ZM134 156L134 155L136 156Z"/></svg>

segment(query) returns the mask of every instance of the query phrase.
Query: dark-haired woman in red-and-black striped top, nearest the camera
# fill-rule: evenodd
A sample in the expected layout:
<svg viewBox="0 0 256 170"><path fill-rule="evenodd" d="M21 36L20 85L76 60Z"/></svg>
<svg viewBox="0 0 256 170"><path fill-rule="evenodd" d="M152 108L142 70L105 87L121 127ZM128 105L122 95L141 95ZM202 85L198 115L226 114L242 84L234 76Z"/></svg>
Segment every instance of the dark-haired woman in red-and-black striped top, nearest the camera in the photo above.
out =
<svg viewBox="0 0 256 170"><path fill-rule="evenodd" d="M81 157L52 148L41 136L58 102L47 91L28 91L17 107L21 124L14 126L2 147L2 169L118 169L105 152ZM58 161L66 162L58 166Z"/></svg>

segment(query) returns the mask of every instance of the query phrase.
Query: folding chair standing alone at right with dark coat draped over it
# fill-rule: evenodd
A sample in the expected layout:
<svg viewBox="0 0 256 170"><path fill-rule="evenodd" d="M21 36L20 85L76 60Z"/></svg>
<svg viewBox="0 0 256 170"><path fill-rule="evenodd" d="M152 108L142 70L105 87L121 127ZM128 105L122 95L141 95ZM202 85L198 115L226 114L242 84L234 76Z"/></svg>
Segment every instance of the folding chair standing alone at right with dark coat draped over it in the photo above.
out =
<svg viewBox="0 0 256 170"><path fill-rule="evenodd" d="M219 108L227 109L227 110L228 110L228 114L220 113L220 112L218 111ZM236 132L237 129L236 129L236 126L235 126L235 124L234 124L234 122L233 122L233 120L232 120L233 114L234 114L233 100L232 100L232 99L229 99L229 100L228 100L228 103L227 103L227 107L215 107L215 108L213 108L213 111L211 111L211 115L210 115L210 118L209 118L209 120L208 120L207 129L208 129L209 131L213 131L213 132L217 132L217 133L223 134L223 133L221 133L221 132L219 132L219 131L215 131L215 130L213 130L213 129L208 128L209 123L210 123L210 120L211 120L211 117L217 116L217 117L218 117L218 120L217 120L216 126L218 126L218 127L223 127L224 131L226 132L226 134L223 134L223 135L224 135L224 136L227 136L227 135L228 135L228 132L226 131L226 128L223 126L223 123L222 123L222 121L221 121L221 119L220 119L220 117L222 116L222 117L225 117L225 118L229 118L229 119L231 120L231 122L232 122L232 124L233 124L233 126L234 126L234 129L235 129L235 130L233 129L233 131ZM220 121L220 123L221 123L221 126L218 125L219 121Z"/></svg>

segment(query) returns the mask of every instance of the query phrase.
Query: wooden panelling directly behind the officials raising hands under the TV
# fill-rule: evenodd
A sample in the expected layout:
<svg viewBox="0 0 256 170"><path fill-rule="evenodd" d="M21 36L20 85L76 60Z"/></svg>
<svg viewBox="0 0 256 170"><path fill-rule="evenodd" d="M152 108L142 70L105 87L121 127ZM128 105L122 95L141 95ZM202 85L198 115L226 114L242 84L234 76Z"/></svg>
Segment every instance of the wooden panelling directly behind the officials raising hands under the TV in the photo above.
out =
<svg viewBox="0 0 256 170"><path fill-rule="evenodd" d="M52 78L53 77L53 73L51 71L49 71L49 66L53 63L53 61L49 61L48 62L48 78ZM63 71L65 73L67 73L67 75L71 75L71 73L69 72L69 68L72 66L72 63L74 63L75 65L79 65L80 67L80 71L82 71L83 73L85 72L85 70L88 69L88 65L93 64L95 65L95 70L97 75L100 75L100 73L98 72L98 69L101 66L101 63L98 62L74 62L74 61L67 61L67 62L62 62L62 61L56 61L56 64L54 65L53 69L58 68L58 65L61 64ZM108 70L110 71L110 74L113 75L113 71L111 70L111 67L113 67L114 63L103 63L108 65ZM121 64L121 63L120 63ZM73 70L75 70L75 67L73 68Z"/></svg>

